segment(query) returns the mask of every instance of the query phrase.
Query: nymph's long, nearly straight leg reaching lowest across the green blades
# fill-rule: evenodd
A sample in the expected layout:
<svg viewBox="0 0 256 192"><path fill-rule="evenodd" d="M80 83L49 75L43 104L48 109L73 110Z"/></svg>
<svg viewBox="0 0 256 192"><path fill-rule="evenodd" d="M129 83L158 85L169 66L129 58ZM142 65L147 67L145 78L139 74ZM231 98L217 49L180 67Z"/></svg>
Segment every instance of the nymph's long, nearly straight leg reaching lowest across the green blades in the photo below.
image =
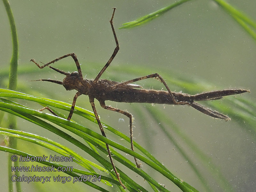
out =
<svg viewBox="0 0 256 192"><path fill-rule="evenodd" d="M103 130L102 124L100 123L100 118L99 118L98 113L97 113L96 108L95 108L94 98L89 97L89 99L90 99L90 103L91 103L91 105L92 105L92 110L93 110L93 112L94 112L95 118L96 118L96 120L97 120L97 122L98 122L98 124L99 124L101 134L102 134L104 137L106 137L106 134L105 134L105 132L104 132L104 130ZM116 166L115 166L115 164L114 164L114 162L113 162L113 159L112 159L112 156L111 156L111 153L110 153L110 150L109 150L109 147L108 147L108 144L107 144L107 143L106 143L106 148L107 148L107 151L108 151L108 156L109 156L110 162L111 162L111 164L112 164L113 170L114 170L114 172L116 173L116 177L117 177L118 181L120 182L120 184L122 185L122 187L125 189L126 187L124 186L124 184L123 184L122 181L120 180L119 173L116 171Z"/></svg>

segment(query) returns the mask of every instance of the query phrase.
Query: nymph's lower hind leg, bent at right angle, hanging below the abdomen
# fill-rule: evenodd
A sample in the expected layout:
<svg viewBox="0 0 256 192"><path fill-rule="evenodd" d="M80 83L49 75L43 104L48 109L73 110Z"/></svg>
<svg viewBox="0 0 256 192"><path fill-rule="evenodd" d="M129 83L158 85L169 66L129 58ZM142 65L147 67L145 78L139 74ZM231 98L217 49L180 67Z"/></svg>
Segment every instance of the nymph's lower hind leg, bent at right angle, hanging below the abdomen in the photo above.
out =
<svg viewBox="0 0 256 192"><path fill-rule="evenodd" d="M100 100L100 106L104 109L108 109L108 110L111 110L111 111L116 111L118 113L122 113L123 115L129 117L130 119L130 140L131 140L131 148L132 150L134 151L134 148L133 148L133 141L132 141L132 136L133 136L133 133L132 133L132 114L131 113L128 113L128 112L125 112L123 110L120 110L118 108L114 108L114 107L111 107L111 106L107 106L105 105L105 101L103 100ZM137 163L137 159L134 157L134 160L135 160L135 163L136 163L136 167L140 168L141 167L141 164L138 164Z"/></svg>

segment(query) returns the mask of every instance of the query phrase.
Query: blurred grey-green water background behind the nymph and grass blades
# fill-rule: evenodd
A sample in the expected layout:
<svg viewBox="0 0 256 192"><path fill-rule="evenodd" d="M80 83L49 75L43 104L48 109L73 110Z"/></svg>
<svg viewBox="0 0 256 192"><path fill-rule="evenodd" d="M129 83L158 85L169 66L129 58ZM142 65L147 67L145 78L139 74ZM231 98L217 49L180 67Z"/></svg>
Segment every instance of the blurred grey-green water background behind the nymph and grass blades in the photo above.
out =
<svg viewBox="0 0 256 192"><path fill-rule="evenodd" d="M189 1L146 25L118 30L122 23L135 20L171 3L173 1L104 1L99 3L97 1L10 0L19 41L18 91L71 103L75 91L67 92L64 87L48 82L29 82L29 80L40 78L56 80L64 78L49 68L37 68L29 60L34 58L36 61L46 63L67 53L75 52L82 64L83 75L89 79L94 78L115 48L109 20L112 8L116 7L114 27L120 51L102 78L124 81L157 72L160 75L164 74L162 76L167 82L169 77L177 77L209 83L215 86L214 90L250 89L252 93L237 97L255 101L256 42L213 1ZM230 0L229 4L256 20L255 1ZM0 23L0 85L1 88L6 88L12 42L9 21L2 1ZM76 70L72 58L59 61L54 66L70 72ZM159 81L153 79L144 80L138 84L148 89L161 90L164 87ZM172 91L183 90L183 87L175 84L168 85ZM212 88L202 91L211 90ZM187 93L195 94L196 92ZM40 108L40 105L22 102L34 109ZM221 105L222 100L213 102ZM194 152L172 130L168 121L161 120L162 116L172 120L184 135L194 141L197 147L211 159L209 163L218 168L213 171L220 172L230 182L233 191L255 190L255 133L250 131L255 127L250 127L246 122L239 124L234 118L229 122L213 119L191 107L106 103L131 112L136 126L134 140L151 152L172 173L197 190L207 189L191 169L190 162L181 156L173 142L159 128L159 123L172 134L174 140L190 156L191 161L196 164L196 168L207 180L206 185L212 191L223 189L216 181L218 178L205 169L205 164L203 165L200 159L194 156ZM91 110L87 96L80 96L77 106ZM159 109L159 115L153 118L147 111L148 107ZM103 122L126 135L129 134L129 121L126 116L102 109L97 101L96 108ZM124 121L121 120L122 118ZM6 116L4 119L7 119ZM76 116L74 120L79 123L84 121ZM4 124L1 126L4 127ZM91 123L87 126L99 132L95 124ZM60 143L64 142L55 135L21 119L18 119L18 127L23 131L40 134ZM107 136L115 140L111 134ZM28 146L25 142L19 141L18 144L22 146L21 148ZM129 147L127 143L122 144ZM72 148L71 145L70 147ZM37 153L38 149L34 149L31 148L28 152ZM132 160L132 157L130 159ZM2 172L0 186L1 191L5 192L8 191L6 153L1 152L0 161ZM150 173L148 166L145 165L142 169ZM168 190L180 191L169 180L162 178L162 175L154 174L154 178L166 185ZM138 180L143 185L143 179ZM22 183L22 186L26 191L39 191L41 188L40 185L32 183ZM52 186L45 184L43 186L44 189L40 189L41 191L49 191L50 188L58 188L61 191L70 191L72 188L75 191L91 189L84 184L72 185L55 182ZM148 188L148 184L145 183L144 187Z"/></svg>

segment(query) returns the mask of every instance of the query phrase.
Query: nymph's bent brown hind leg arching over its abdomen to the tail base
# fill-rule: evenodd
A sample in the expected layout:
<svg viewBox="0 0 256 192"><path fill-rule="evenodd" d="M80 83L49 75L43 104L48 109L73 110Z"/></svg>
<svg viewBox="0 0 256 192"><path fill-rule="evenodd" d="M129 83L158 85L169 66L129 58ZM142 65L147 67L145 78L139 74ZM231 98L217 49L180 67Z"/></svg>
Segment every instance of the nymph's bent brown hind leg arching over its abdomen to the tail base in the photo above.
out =
<svg viewBox="0 0 256 192"><path fill-rule="evenodd" d="M138 78L135 78L135 79L132 79L132 80L129 80L129 81L125 81L123 83L116 84L113 87L114 87L114 89L116 89L116 88L124 86L126 84L130 84L130 83L133 83L133 82L136 82L136 81L140 81L140 80L143 80L143 79L156 78L156 77L158 77L160 79L160 81L164 84L164 86L166 87L166 89L170 93L170 96L171 96L171 99L172 99L174 105L189 105L188 102L183 102L183 101L178 102L178 101L176 101L174 99L174 96L173 96L171 90L169 89L168 85L165 83L163 77L161 77L158 73L154 73L154 74L151 74L151 75L147 75L147 76L143 76L143 77L138 77Z"/></svg>

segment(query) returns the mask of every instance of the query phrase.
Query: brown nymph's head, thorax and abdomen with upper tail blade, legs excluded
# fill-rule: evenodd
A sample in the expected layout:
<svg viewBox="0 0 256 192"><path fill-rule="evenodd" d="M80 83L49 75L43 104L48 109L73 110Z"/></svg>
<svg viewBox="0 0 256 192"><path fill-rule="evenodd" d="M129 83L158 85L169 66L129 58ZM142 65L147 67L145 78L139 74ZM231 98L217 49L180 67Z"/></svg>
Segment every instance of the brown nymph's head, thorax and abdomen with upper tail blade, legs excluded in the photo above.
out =
<svg viewBox="0 0 256 192"><path fill-rule="evenodd" d="M141 87L134 84L126 84L115 88L116 84L120 83L108 79L100 79L97 82L88 79L83 79L81 81L79 74L76 71L63 79L63 86L66 88L66 90L76 90L81 94L89 95L99 101L110 100L125 103L155 103L177 105L177 103L173 102L170 97L170 93L167 91L137 89ZM172 92L172 95L178 102L184 101L193 103L194 101L217 100L221 99L222 96L241 94L244 92L248 92L248 90L227 89L203 92L196 95Z"/></svg>

